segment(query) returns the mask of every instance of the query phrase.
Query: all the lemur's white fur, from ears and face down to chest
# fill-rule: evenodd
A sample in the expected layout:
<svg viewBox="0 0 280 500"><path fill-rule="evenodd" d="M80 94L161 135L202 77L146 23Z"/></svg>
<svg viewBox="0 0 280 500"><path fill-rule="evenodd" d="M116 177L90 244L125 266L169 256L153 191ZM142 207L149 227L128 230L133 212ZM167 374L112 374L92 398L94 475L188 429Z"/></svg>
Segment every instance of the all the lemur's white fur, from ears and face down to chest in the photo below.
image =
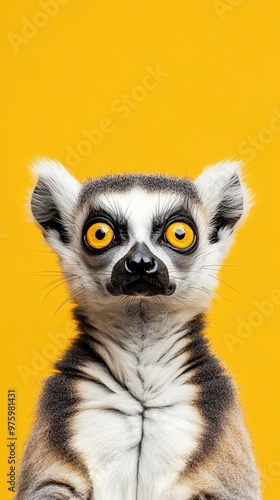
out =
<svg viewBox="0 0 280 500"><path fill-rule="evenodd" d="M94 324L95 350L109 367L106 371L98 363L84 364L82 370L92 380L77 382L80 406L72 421L72 446L89 471L95 500L189 500L196 493L178 481L196 449L203 422L193 404L198 389L181 368L188 340L176 340L183 325L208 308L218 267L232 243L230 229L221 230L217 242L209 242L215 210L224 196L243 196L248 205L246 188L227 189L238 169L237 163L225 162L197 179L201 203L190 202L189 208L199 245L180 271L164 246L151 239L153 214L178 201L178 194L135 188L113 197L100 195L95 202L110 209L114 204L125 214L129 241L115 249L106 273L96 276L82 258L81 228L88 207L76 211L80 184L60 165L40 164L39 176L51 186L71 243L65 246L56 231L46 237L64 271L74 276L69 288ZM120 307L119 297L106 290L114 265L136 242L146 243L176 284L175 293L158 297L158 303L153 297L145 299L155 312L144 330L137 318L129 322L126 303Z"/></svg>

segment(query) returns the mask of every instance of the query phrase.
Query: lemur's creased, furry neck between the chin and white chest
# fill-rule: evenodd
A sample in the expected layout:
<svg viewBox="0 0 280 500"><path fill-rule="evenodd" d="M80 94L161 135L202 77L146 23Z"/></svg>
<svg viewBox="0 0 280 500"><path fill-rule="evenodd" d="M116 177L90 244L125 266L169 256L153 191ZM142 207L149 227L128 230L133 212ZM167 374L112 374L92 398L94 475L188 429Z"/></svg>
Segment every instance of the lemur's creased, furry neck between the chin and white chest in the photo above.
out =
<svg viewBox="0 0 280 500"><path fill-rule="evenodd" d="M208 353L201 314L184 317L138 307L123 316L108 311L96 317L79 307L75 317L93 350L93 362L101 362L141 401L155 402L155 395L185 384L193 363Z"/></svg>

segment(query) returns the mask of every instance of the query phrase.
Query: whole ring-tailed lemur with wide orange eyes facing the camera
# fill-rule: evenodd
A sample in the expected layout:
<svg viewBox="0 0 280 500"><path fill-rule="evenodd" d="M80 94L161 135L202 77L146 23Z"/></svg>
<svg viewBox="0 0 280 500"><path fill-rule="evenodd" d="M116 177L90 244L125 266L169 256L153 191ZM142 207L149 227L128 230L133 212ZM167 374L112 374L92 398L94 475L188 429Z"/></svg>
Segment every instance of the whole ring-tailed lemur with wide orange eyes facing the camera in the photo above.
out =
<svg viewBox="0 0 280 500"><path fill-rule="evenodd" d="M35 171L77 336L45 381L15 500L260 500L235 385L203 335L250 205L239 163L195 181Z"/></svg>

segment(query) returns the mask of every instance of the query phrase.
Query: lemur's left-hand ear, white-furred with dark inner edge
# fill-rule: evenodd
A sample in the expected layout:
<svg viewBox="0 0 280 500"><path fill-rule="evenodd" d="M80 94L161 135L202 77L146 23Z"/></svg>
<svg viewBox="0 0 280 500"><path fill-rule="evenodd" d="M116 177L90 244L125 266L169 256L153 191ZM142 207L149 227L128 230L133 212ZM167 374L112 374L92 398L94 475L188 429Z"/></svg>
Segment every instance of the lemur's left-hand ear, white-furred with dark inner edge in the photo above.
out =
<svg viewBox="0 0 280 500"><path fill-rule="evenodd" d="M31 197L31 211L46 239L69 242L69 226L81 184L61 165L40 159L32 166L38 177Z"/></svg>

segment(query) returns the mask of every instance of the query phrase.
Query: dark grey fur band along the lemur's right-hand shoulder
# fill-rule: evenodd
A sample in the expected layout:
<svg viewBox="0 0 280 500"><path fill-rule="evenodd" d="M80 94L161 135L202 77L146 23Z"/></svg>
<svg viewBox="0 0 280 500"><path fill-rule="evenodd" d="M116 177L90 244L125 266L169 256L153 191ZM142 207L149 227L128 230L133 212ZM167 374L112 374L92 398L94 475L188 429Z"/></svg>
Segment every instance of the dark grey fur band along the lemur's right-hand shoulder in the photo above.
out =
<svg viewBox="0 0 280 500"><path fill-rule="evenodd" d="M196 406L206 424L201 442L187 464L189 469L201 463L214 448L222 432L226 412L235 401L235 390L231 377L211 353L209 342L201 333L203 316L199 315L191 321L188 328L191 343L187 353L190 358L185 364L185 372L193 372L190 383L199 387Z"/></svg>

